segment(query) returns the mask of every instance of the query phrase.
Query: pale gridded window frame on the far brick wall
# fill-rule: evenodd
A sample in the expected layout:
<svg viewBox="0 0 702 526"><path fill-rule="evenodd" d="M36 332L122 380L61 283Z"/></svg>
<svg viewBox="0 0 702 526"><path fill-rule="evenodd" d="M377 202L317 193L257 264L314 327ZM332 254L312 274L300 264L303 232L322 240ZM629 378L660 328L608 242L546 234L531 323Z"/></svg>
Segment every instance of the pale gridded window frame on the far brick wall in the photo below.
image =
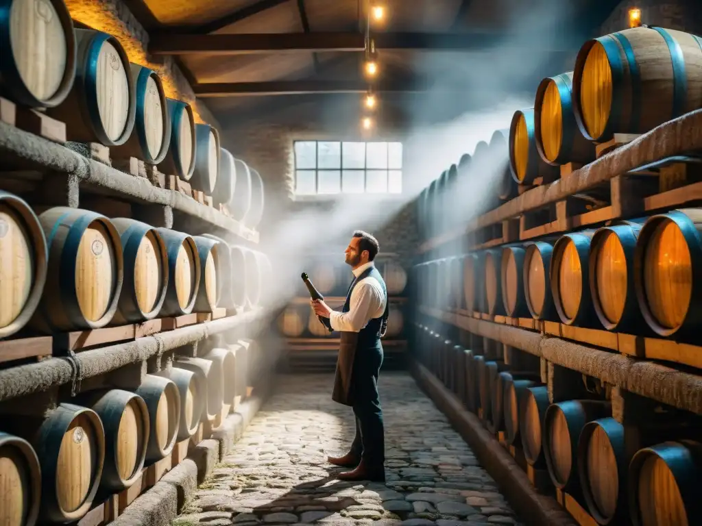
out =
<svg viewBox="0 0 702 526"><path fill-rule="evenodd" d="M296 144L300 142L313 142L314 143L314 168L298 168L298 151L296 148ZM319 143L320 142L330 142L330 143L338 143L339 144L339 166L338 168L319 168ZM363 167L362 168L344 168L343 166L343 159L344 159L344 144L345 143L360 143L363 144L364 148L364 160L363 160ZM368 168L368 144L372 143L385 143L386 148L385 148L385 161L386 161L386 166L387 168ZM400 168L391 168L390 167L390 144L392 143L397 143L400 144L400 147L402 147L402 154L400 156ZM317 137L300 137L299 139L294 139L293 140L293 174L294 174L294 180L293 180L293 195L295 196L296 200L320 200L320 199L333 199L333 198L338 198L339 196L348 196L348 195L353 195L353 196L364 196L366 198L399 198L402 196L404 193L404 184L402 184L403 181L403 175L404 175L404 144L402 143L401 140L392 140L392 139L386 139L386 140L362 140L360 138L356 137L348 137L345 139L329 139L329 138L317 138ZM377 192L369 192L368 191L368 172L369 170L372 172L374 170L376 171L385 171L386 174L386 180L385 180L385 191L377 191ZM319 172L320 171L336 171L339 173L339 187L338 191L333 192L333 193L319 193ZM298 173L300 172L307 172L307 173L314 173L314 193L310 194L298 194L297 188L298 188ZM363 190L362 191L352 191L352 192L345 192L343 190L343 182L344 182L344 172L355 172L355 173L362 173L363 174ZM390 172L399 172L400 173L400 191L399 192L392 192L389 190L390 188Z"/></svg>

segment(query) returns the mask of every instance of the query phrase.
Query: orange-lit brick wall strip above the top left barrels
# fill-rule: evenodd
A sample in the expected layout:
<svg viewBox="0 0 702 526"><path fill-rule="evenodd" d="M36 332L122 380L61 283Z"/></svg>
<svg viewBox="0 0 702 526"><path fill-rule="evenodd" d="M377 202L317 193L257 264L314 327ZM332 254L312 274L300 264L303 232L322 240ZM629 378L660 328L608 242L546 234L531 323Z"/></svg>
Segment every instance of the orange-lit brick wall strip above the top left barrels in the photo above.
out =
<svg viewBox="0 0 702 526"><path fill-rule="evenodd" d="M166 97L189 103L197 122L220 128L210 110L195 98L173 58L147 53L149 36L121 0L65 0L65 4L71 18L111 34L119 40L131 62L157 72L161 76Z"/></svg>

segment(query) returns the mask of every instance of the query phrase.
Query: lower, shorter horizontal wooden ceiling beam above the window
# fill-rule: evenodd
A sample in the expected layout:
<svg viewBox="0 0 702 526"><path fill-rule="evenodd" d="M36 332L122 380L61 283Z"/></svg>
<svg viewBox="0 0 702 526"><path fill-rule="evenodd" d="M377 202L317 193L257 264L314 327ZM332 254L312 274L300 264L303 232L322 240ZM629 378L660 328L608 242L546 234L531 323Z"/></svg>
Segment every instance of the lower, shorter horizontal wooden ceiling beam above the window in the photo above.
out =
<svg viewBox="0 0 702 526"><path fill-rule="evenodd" d="M348 81L269 81L195 84L198 97L246 97L261 95L302 95L305 93L366 93L369 84L362 79ZM376 92L422 93L432 83L421 79L392 79L373 84ZM446 88L444 88L446 89ZM457 88L458 89L458 88Z"/></svg>

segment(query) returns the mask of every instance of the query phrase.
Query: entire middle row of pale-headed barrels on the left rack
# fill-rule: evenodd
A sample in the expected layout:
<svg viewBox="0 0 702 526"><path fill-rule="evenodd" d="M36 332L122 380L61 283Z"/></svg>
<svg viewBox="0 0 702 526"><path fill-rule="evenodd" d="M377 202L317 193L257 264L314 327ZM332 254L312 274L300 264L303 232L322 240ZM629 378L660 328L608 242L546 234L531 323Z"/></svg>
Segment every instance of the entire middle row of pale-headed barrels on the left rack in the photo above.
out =
<svg viewBox="0 0 702 526"><path fill-rule="evenodd" d="M269 294L263 253L205 234L55 207L0 191L0 337L251 309Z"/></svg>

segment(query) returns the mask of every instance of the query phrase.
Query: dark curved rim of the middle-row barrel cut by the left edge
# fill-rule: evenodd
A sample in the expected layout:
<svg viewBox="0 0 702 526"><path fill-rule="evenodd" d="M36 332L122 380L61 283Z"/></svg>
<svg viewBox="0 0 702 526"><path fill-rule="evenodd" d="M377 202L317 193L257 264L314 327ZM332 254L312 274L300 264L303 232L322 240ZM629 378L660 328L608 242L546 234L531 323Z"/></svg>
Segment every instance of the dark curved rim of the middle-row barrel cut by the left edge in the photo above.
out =
<svg viewBox="0 0 702 526"><path fill-rule="evenodd" d="M26 201L14 194L0 190L0 204L8 205L17 214L22 228L31 236L29 245L32 247L32 255L34 256L32 290L29 292L25 306L22 308L19 316L8 325L0 328L0 338L4 338L26 325L41 302L48 271L48 248L44 237L44 229L41 228L37 215L34 214Z"/></svg>

